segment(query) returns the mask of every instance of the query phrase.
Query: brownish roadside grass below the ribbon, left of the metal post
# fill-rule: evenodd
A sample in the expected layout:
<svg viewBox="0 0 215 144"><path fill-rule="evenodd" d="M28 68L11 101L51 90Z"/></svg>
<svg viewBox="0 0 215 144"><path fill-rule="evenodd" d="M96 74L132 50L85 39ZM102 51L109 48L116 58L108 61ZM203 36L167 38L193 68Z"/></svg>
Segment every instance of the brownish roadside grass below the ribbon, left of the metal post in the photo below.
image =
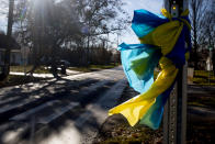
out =
<svg viewBox="0 0 215 144"><path fill-rule="evenodd" d="M131 126L122 115L109 118L105 124L111 128L103 131L93 144L159 144L162 141L162 129L155 131L144 125Z"/></svg>

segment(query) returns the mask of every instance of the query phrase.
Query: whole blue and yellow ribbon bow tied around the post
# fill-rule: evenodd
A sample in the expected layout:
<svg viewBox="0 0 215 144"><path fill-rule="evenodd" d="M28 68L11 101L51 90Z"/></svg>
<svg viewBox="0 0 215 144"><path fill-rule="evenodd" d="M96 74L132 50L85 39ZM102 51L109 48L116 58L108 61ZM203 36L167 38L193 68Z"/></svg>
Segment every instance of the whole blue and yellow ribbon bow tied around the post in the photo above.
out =
<svg viewBox="0 0 215 144"><path fill-rule="evenodd" d="M165 103L191 49L189 10L180 18L172 18L165 9L161 12L163 15L134 11L132 29L142 44L118 46L129 86L140 95L111 109L109 114L123 114L132 126L139 122L154 130L159 128ZM158 65L161 70L154 81Z"/></svg>

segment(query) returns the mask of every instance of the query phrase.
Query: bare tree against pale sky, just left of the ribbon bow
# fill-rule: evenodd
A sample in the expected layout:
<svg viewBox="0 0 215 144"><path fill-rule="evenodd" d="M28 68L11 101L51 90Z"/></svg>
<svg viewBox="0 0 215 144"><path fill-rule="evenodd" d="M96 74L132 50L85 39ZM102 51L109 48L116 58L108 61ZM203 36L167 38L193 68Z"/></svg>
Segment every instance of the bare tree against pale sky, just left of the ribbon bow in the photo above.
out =
<svg viewBox="0 0 215 144"><path fill-rule="evenodd" d="M77 11L83 25L83 42L87 48L86 62L89 60L90 45L99 44L105 35L124 30L128 24L122 0L78 0ZM124 18L120 18L118 14ZM86 63L88 64L88 63Z"/></svg>

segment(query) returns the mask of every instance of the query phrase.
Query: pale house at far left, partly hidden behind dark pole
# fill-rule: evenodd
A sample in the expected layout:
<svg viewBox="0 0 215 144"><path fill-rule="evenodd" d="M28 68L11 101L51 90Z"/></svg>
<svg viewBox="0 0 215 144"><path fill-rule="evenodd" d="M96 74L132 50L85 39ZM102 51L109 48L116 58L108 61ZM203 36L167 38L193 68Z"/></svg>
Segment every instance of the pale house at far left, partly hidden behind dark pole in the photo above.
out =
<svg viewBox="0 0 215 144"><path fill-rule="evenodd" d="M4 64L4 55L7 47L7 35L0 33L0 65ZM21 46L14 38L11 38L10 43L11 47L11 65L21 65L22 64L22 55L21 55Z"/></svg>

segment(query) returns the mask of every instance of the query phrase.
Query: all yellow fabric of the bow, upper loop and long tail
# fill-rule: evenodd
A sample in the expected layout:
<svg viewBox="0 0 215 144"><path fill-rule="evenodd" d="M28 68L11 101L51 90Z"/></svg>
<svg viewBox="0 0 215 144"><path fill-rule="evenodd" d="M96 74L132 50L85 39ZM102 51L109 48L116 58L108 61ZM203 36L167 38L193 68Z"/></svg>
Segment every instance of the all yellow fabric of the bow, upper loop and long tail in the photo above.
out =
<svg viewBox="0 0 215 144"><path fill-rule="evenodd" d="M138 95L109 111L110 115L115 113L123 114L132 126L147 113L149 108L156 102L156 98L171 87L179 71L173 63L165 56L172 51L184 23L189 24L189 22L184 19L183 22L172 21L172 16L167 10L161 10L161 12L170 22L156 27L148 35L139 38L140 43L160 46L163 55L159 60L161 71L148 91ZM188 13L189 11L184 11L182 15L188 15ZM188 57L188 54L185 55Z"/></svg>

